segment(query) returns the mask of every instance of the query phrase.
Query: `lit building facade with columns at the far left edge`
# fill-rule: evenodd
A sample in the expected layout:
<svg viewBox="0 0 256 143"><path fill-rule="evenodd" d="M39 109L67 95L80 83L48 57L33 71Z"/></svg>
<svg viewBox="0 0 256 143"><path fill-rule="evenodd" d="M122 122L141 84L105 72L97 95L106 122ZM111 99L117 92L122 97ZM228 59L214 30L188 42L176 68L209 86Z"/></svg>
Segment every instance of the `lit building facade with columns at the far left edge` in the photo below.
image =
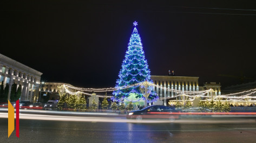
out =
<svg viewBox="0 0 256 143"><path fill-rule="evenodd" d="M37 101L42 74L40 71L0 54L0 82L2 83L3 81L4 88L6 85L9 85L9 100L11 86L16 83L22 87L20 101L30 101L32 103Z"/></svg>

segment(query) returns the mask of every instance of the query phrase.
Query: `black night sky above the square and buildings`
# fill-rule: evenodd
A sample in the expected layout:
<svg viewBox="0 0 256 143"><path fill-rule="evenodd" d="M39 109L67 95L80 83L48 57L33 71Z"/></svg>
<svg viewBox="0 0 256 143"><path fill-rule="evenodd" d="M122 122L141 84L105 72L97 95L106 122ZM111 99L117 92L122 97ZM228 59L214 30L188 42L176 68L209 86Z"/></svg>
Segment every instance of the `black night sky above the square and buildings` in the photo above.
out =
<svg viewBox="0 0 256 143"><path fill-rule="evenodd" d="M136 20L151 75L171 69L224 88L241 80L218 74L256 80L255 7L245 1L5 1L0 53L40 71L43 81L114 87Z"/></svg>

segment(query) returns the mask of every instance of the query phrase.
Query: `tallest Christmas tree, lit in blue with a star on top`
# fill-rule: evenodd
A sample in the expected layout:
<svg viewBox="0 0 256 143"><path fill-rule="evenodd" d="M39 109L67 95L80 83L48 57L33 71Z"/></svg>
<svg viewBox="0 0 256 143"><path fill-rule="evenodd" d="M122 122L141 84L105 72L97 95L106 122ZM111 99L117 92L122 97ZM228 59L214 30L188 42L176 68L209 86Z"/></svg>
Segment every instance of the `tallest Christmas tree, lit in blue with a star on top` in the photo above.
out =
<svg viewBox="0 0 256 143"><path fill-rule="evenodd" d="M137 22L134 22L133 24L136 26ZM116 88L145 81L152 82L152 80L150 80L148 62L145 59L144 54L140 35L137 28L134 27L128 44L128 51L126 52L125 58L122 62L122 69L119 72L119 79L116 81ZM151 94L148 97L148 102L157 98L152 86L148 87L148 91L151 91ZM136 102L143 97L143 93L140 91L139 85L132 88L118 89L113 92L113 95L115 100L119 102L123 102L124 99ZM128 98L129 96L134 95L136 98Z"/></svg>

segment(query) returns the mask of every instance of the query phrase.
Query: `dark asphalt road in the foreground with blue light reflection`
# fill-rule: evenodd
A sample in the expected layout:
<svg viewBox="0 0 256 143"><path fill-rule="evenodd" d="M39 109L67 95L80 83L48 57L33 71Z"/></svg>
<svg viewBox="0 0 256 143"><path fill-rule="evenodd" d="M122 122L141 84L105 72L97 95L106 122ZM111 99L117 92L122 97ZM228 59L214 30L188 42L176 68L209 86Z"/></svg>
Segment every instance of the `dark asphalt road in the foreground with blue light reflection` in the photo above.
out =
<svg viewBox="0 0 256 143"><path fill-rule="evenodd" d="M256 142L255 118L189 118L177 123L20 119L19 124L19 138L15 131L8 138L8 118L0 118L0 142Z"/></svg>

